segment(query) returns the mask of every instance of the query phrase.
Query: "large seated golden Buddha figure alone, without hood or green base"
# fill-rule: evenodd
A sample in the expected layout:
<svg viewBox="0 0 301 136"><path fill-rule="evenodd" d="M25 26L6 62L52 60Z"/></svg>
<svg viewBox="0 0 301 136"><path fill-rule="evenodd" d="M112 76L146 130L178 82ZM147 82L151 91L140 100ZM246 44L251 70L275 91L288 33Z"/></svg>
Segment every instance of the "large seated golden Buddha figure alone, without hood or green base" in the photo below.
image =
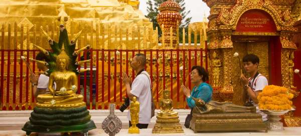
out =
<svg viewBox="0 0 301 136"><path fill-rule="evenodd" d="M77 107L85 105L83 95L76 94L77 91L77 75L71 71L70 58L66 54L64 47L56 58L56 70L51 72L49 76L49 91L51 94L40 94L37 97L37 105L40 106L56 106L56 107ZM56 89L53 84L56 82ZM55 100L55 104L53 102Z"/></svg>

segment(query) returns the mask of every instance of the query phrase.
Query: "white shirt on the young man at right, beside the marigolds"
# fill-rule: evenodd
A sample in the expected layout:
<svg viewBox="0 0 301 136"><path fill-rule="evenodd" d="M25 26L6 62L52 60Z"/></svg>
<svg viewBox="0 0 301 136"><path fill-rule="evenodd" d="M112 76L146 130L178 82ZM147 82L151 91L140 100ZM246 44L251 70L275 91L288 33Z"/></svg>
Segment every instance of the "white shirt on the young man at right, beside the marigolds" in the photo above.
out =
<svg viewBox="0 0 301 136"><path fill-rule="evenodd" d="M258 91L258 90L263 90L263 88L268 85L268 82L267 82L267 79L265 76L263 76L262 74L258 74L255 79L254 79L254 82L253 82L253 78L249 79L249 82L251 83L251 88L254 92ZM263 121L266 121L267 120L267 114L263 113L261 110L259 110L259 107L258 107L258 104L255 103L253 100L252 101L252 104L254 106L256 106L256 113L259 113L261 114L262 116L262 120Z"/></svg>

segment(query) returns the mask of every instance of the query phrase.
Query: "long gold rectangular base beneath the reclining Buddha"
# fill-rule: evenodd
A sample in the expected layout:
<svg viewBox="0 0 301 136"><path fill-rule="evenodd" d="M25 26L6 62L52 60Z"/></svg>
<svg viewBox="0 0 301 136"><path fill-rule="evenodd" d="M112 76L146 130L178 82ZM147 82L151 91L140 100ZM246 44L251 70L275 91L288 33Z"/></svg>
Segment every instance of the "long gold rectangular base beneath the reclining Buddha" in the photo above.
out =
<svg viewBox="0 0 301 136"><path fill-rule="evenodd" d="M267 124L258 113L193 113L190 127L194 132L265 130Z"/></svg>

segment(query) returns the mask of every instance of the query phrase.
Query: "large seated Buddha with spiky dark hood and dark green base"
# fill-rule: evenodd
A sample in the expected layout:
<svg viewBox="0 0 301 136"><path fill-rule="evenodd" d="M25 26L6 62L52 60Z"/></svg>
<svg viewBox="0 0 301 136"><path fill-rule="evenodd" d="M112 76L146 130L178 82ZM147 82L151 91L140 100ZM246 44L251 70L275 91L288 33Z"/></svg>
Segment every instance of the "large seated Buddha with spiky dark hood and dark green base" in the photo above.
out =
<svg viewBox="0 0 301 136"><path fill-rule="evenodd" d="M47 32L44 31L47 36ZM73 55L76 41L69 43L68 33L63 24L60 24L59 42L51 41L51 51L45 51L37 46L42 52L47 52L49 64L49 91L50 94L39 94L37 103L31 113L30 121L22 128L27 135L31 132L78 132L84 135L88 130L96 128L91 120L83 96L76 94L78 84L78 71L76 70L77 55ZM44 51L43 51L44 50ZM76 64L77 63L77 64ZM53 87L56 82L56 88Z"/></svg>

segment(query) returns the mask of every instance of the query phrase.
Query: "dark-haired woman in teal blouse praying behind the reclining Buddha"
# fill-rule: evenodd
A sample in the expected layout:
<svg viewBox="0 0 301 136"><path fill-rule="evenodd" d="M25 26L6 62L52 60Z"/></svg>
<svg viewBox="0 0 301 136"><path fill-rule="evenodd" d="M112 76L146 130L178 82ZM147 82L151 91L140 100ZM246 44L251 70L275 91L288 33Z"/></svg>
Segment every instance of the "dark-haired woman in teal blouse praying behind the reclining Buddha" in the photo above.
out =
<svg viewBox="0 0 301 136"><path fill-rule="evenodd" d="M206 72L202 66L195 65L191 68L190 79L191 82L195 84L192 91L190 91L190 89L184 84L181 85L183 88L183 93L186 96L188 106L190 108L196 106L192 97L200 98L205 102L209 102L212 97L213 89L208 83L206 83L206 81L209 79L208 72Z"/></svg>

